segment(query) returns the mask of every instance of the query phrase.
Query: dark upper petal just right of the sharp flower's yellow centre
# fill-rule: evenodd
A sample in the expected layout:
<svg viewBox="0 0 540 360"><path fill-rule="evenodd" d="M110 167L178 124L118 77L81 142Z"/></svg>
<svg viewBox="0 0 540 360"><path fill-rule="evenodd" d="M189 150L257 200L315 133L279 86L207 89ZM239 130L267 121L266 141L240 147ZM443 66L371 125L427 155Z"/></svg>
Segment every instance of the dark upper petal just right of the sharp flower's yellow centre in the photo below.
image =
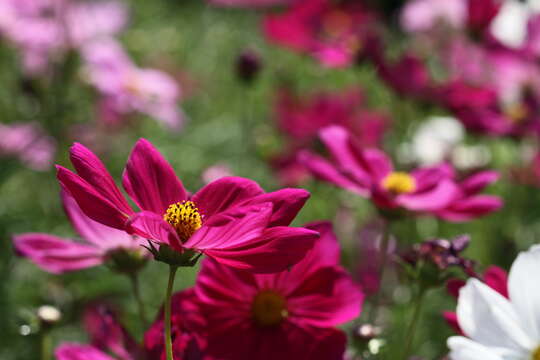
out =
<svg viewBox="0 0 540 360"><path fill-rule="evenodd" d="M223 177L206 185L191 200L205 217L226 211L264 191L253 180L241 177Z"/></svg>

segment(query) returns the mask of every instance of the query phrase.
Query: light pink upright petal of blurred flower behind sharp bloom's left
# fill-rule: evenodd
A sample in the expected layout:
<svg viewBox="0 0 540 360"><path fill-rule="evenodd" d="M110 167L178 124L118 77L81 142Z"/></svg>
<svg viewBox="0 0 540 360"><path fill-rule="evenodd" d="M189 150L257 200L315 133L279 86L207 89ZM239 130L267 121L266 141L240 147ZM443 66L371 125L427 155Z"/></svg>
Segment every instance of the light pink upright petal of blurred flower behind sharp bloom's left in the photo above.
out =
<svg viewBox="0 0 540 360"><path fill-rule="evenodd" d="M103 249L134 246L131 235L90 219L67 192L62 191L60 196L71 224L84 240Z"/></svg>

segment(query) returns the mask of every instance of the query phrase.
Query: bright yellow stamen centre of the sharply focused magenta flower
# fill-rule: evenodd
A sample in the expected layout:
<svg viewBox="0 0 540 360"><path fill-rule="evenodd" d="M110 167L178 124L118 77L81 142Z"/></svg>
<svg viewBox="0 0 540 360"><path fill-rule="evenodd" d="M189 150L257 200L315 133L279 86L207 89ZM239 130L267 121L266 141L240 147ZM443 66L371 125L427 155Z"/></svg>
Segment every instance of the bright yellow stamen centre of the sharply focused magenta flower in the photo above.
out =
<svg viewBox="0 0 540 360"><path fill-rule="evenodd" d="M202 216L193 201L172 204L163 219L171 224L182 241L186 241L202 226Z"/></svg>

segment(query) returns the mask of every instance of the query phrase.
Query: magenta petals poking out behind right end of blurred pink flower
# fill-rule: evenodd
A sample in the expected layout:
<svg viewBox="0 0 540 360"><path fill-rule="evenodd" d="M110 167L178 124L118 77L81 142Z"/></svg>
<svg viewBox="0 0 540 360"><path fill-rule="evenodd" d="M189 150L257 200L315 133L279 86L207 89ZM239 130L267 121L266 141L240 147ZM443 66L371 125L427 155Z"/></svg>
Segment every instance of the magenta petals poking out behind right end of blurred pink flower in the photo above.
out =
<svg viewBox="0 0 540 360"><path fill-rule="evenodd" d="M458 195L454 201L435 214L448 221L462 222L499 210L503 202L498 196L479 194L498 178L495 171L482 171L466 178L458 184Z"/></svg>

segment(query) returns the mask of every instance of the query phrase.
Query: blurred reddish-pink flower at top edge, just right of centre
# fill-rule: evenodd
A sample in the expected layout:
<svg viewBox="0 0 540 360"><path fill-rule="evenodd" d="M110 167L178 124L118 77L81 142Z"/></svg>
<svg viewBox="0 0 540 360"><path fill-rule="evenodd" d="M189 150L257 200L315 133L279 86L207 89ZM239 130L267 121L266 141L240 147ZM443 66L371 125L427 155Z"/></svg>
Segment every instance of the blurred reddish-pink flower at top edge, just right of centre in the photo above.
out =
<svg viewBox="0 0 540 360"><path fill-rule="evenodd" d="M292 50L310 54L328 67L353 63L363 53L376 22L358 1L297 1L264 22L266 36Z"/></svg>

